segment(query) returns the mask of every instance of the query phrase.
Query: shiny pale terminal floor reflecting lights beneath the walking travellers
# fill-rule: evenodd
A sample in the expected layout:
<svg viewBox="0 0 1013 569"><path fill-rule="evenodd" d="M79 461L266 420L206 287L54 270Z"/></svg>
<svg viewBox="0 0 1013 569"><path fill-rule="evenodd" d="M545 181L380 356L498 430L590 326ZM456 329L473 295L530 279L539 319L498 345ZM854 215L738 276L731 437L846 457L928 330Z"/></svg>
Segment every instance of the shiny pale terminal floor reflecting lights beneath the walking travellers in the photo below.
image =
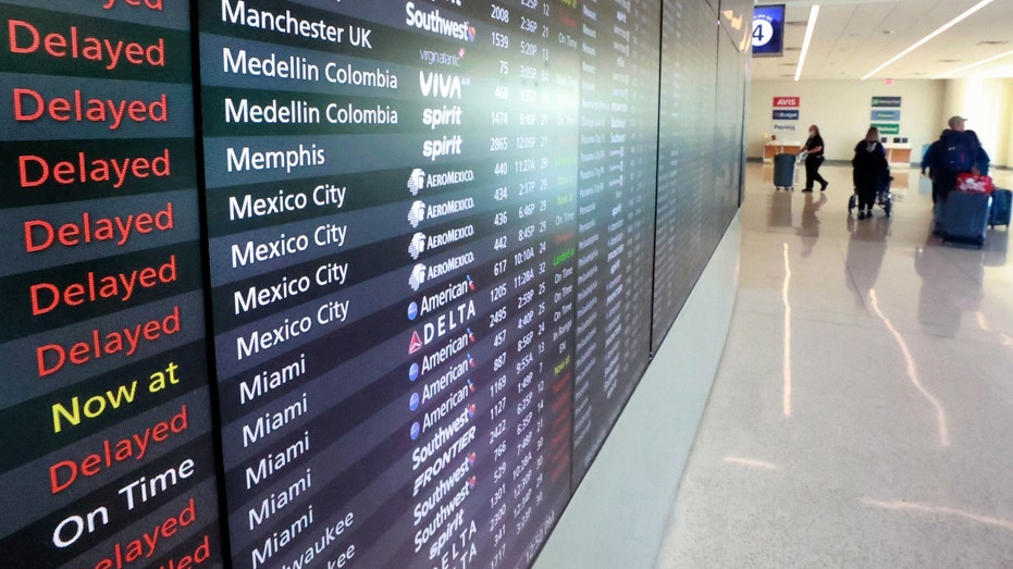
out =
<svg viewBox="0 0 1013 569"><path fill-rule="evenodd" d="M801 173L801 172L800 172ZM775 191L749 164L740 288L658 567L1013 567L1013 262ZM1013 188L1013 172L993 171Z"/></svg>

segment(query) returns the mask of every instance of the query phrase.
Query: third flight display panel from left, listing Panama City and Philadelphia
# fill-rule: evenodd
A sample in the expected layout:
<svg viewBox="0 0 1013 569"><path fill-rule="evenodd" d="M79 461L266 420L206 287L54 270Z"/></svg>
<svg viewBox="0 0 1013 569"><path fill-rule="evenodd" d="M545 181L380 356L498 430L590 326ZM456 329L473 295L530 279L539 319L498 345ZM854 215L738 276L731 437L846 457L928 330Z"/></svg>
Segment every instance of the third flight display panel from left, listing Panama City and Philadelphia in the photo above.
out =
<svg viewBox="0 0 1013 569"><path fill-rule="evenodd" d="M647 366L660 5L581 9L573 481Z"/></svg>

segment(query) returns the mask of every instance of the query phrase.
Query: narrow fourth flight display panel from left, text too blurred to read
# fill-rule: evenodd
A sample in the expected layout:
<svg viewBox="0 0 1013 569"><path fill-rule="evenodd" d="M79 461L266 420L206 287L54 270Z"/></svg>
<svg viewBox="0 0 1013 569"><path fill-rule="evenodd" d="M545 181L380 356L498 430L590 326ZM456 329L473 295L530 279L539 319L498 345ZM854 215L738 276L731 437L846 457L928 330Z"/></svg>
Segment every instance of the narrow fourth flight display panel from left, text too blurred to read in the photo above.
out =
<svg viewBox="0 0 1013 569"><path fill-rule="evenodd" d="M715 11L669 0L662 15L654 322L657 350L700 277L721 232L715 182L717 38Z"/></svg>

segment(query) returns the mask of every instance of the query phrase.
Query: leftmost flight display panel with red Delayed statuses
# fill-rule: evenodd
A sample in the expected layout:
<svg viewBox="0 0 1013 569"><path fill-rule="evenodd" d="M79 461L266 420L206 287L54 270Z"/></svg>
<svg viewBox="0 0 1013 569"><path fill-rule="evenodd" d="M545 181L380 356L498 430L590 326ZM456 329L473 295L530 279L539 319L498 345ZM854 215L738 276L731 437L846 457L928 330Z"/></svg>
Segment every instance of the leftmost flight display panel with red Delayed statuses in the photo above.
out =
<svg viewBox="0 0 1013 569"><path fill-rule="evenodd" d="M0 3L0 559L223 560L189 8Z"/></svg>

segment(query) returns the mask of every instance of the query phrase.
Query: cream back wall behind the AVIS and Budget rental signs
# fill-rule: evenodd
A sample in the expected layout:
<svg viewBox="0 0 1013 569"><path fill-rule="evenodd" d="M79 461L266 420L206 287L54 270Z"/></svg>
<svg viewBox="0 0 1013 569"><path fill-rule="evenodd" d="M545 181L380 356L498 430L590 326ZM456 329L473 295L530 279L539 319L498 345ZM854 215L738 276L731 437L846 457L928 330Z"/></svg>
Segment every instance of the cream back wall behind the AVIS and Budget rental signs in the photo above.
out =
<svg viewBox="0 0 1013 569"><path fill-rule="evenodd" d="M794 136L779 133L779 140L805 141L808 126L819 126L827 147L828 160L851 160L855 144L865 137L874 96L901 97L901 132L912 148L912 160L921 160L922 145L939 138L950 114L944 108L946 83L941 81L897 81L885 85L881 81L813 81L761 82L751 86L750 114L746 128L745 154L763 156L764 134L774 123L771 111L775 97L801 97L798 132ZM960 111L964 112L964 111ZM966 111L969 114L969 111Z"/></svg>

